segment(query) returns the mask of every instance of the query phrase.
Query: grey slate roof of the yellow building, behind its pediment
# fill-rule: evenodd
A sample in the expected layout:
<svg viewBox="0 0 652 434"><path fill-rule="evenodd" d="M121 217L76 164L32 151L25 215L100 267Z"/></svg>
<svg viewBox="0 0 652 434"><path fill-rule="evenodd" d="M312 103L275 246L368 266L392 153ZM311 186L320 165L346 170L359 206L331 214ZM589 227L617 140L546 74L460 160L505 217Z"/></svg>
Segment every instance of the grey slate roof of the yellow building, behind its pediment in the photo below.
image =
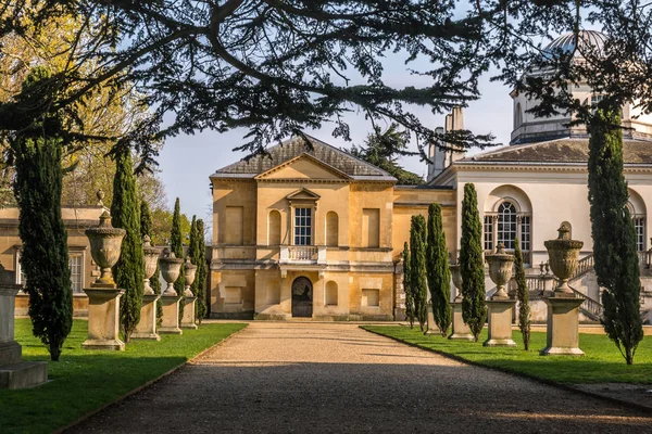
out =
<svg viewBox="0 0 652 434"><path fill-rule="evenodd" d="M218 169L211 178L253 178L301 154L309 154L353 179L373 179L396 181L387 171L371 165L360 158L331 146L314 137L308 136L312 149L300 137L293 137L285 142L267 149L266 155L255 155L249 161L240 159Z"/></svg>

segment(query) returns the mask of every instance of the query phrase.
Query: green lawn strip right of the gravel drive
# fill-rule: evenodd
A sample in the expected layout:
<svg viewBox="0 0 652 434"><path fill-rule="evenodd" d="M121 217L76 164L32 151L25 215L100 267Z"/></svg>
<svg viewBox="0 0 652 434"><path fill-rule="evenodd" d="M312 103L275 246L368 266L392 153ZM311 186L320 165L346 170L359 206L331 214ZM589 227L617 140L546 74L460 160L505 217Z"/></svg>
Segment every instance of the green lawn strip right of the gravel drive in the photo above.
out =
<svg viewBox="0 0 652 434"><path fill-rule="evenodd" d="M519 331L514 331L516 348L487 348L487 329L479 342L449 341L440 335L424 336L418 327L410 330L402 326L364 326L365 330L393 337L423 348L446 353L479 365L505 371L551 380L559 383L645 383L652 384L652 336L647 336L638 347L634 366L625 359L609 337L599 334L580 334L582 357L539 356L546 346L546 333L532 332L530 350L523 349Z"/></svg>

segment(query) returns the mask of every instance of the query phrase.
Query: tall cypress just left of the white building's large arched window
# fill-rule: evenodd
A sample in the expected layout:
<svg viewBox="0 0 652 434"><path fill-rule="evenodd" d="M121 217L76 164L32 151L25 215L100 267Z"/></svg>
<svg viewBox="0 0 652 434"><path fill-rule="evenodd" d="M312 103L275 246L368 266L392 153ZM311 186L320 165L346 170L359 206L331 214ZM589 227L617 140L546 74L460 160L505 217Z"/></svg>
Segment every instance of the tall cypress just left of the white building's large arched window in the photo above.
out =
<svg viewBox="0 0 652 434"><path fill-rule="evenodd" d="M478 337L487 318L485 304L485 264L482 261L482 225L478 213L478 199L473 183L464 184L462 201L462 240L460 242L460 272L462 275L462 318L471 332Z"/></svg>

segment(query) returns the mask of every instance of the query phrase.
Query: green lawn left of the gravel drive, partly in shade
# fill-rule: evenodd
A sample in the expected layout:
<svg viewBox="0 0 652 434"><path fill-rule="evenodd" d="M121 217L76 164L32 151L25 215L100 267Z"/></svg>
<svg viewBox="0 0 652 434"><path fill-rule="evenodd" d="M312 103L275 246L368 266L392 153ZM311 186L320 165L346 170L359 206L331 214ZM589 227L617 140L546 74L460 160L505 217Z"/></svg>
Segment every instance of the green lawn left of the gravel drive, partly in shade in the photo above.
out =
<svg viewBox="0 0 652 434"><path fill-rule="evenodd" d="M28 319L16 319L25 360L49 360L32 335ZM75 320L61 360L50 361L50 382L34 388L0 390L0 432L49 433L183 365L247 324L203 324L161 342L131 342L124 352L80 348L87 322Z"/></svg>

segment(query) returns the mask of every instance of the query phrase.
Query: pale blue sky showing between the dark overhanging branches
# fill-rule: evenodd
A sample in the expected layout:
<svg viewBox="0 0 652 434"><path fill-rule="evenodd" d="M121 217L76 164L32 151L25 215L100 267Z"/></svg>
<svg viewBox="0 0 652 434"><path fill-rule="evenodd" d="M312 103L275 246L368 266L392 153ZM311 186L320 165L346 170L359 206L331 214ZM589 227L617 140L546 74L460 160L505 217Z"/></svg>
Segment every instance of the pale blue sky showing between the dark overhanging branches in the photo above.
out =
<svg viewBox="0 0 652 434"><path fill-rule="evenodd" d="M406 80L417 85L414 76L402 69L387 71L387 82L391 86L402 87ZM472 102L464 110L464 126L475 133L491 132L497 141L507 144L512 131L512 99L510 89L499 82L490 82L489 75L480 81L482 97ZM443 127L443 115L432 115L427 107L414 107L415 113L425 125L431 128ZM372 125L364 119L364 115L352 113L347 116L351 127L351 142L336 139L331 136L331 128L325 126L322 130L306 131L316 138L336 146L350 148L352 143L362 143ZM231 130L226 133L204 131L195 136L181 135L166 140L159 156L161 179L165 184L165 192L170 204L175 197L180 197L181 213L210 221L211 195L209 176L216 169L240 159L244 154L231 150L244 142L244 129ZM416 144L412 143L416 150ZM418 175L426 173L426 165L418 157L405 157L403 166Z"/></svg>

